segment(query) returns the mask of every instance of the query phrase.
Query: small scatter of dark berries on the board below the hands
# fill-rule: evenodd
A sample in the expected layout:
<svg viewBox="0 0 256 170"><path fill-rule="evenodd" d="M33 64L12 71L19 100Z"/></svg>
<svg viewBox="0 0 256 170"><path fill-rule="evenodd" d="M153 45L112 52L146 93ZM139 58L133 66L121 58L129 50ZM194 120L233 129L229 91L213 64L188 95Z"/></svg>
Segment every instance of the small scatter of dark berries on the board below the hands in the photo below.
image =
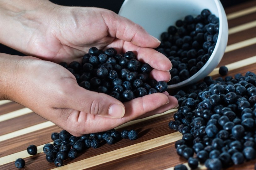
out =
<svg viewBox="0 0 256 170"><path fill-rule="evenodd" d="M137 138L138 132L135 130L123 130L119 132L112 129L99 133L85 134L80 137L72 136L68 131L62 130L59 133L52 133L51 139L53 144L45 144L43 152L46 154L46 160L48 162L54 162L56 167L61 167L63 166L64 160L68 158L74 159L90 147L98 148L101 142L112 145L121 139L135 140ZM37 153L37 147L30 145L27 151L30 155L35 155ZM18 158L14 164L17 168L23 168L25 161L22 158Z"/></svg>

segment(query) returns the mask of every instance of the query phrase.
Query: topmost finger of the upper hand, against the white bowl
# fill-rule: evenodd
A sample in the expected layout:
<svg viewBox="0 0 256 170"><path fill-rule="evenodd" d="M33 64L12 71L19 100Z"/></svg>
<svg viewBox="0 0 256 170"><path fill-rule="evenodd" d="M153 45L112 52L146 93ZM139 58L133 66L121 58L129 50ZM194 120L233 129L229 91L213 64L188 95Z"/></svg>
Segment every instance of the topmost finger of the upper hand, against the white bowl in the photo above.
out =
<svg viewBox="0 0 256 170"><path fill-rule="evenodd" d="M140 25L116 13L102 14L109 36L132 42L140 47L156 48L160 41L147 33Z"/></svg>

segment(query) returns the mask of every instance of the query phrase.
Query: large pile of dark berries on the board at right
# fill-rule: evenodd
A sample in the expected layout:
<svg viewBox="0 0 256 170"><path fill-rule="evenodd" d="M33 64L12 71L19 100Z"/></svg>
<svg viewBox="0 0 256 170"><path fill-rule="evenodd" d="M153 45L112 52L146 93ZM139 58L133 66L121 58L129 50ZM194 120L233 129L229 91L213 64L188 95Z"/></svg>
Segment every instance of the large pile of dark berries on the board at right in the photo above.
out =
<svg viewBox="0 0 256 170"><path fill-rule="evenodd" d="M207 76L177 90L180 107L169 127L182 133L175 147L189 167L197 168L200 162L220 170L256 158L255 86L256 75L248 71L215 80Z"/></svg>

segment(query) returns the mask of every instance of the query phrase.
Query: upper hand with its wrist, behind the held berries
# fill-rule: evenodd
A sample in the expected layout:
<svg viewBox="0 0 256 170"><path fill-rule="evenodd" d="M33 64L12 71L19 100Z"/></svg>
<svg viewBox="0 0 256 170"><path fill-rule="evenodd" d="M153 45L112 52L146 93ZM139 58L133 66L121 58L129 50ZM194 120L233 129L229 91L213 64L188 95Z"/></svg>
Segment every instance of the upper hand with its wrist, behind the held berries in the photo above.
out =
<svg viewBox="0 0 256 170"><path fill-rule="evenodd" d="M47 0L16 0L15 3L3 0L0 8L1 3L4 7L0 21L5 24L0 24L0 42L27 55L69 63L81 61L90 47L113 47L118 53L134 51L138 60L154 68L154 79L169 81L171 78L167 71L172 67L169 59L151 49L160 41L110 10L65 7ZM7 15L1 18L1 13Z"/></svg>

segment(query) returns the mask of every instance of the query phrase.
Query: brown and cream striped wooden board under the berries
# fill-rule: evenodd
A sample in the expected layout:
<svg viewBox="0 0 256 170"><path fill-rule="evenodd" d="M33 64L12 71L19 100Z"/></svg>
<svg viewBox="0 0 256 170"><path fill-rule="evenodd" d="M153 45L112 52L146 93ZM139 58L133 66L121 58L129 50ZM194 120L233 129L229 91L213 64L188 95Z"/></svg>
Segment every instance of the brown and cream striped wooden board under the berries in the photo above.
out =
<svg viewBox="0 0 256 170"><path fill-rule="evenodd" d="M256 73L256 0L225 9L229 39L221 65L229 68L229 75L243 75L247 71ZM210 75L218 77L218 68ZM128 122L117 129L136 129L139 139L130 141L122 139L113 145L102 144L101 147L87 149L74 160L65 160L64 166L58 169L173 169L175 165L187 161L177 155L175 141L181 139L179 132L170 130L168 122L173 120L177 109L151 116L145 119ZM14 161L24 158L26 170L55 169L42 152L44 144L52 142L52 132L62 129L52 122L38 116L30 109L12 101L0 101L0 169L17 169ZM38 154L30 156L26 148L34 144ZM228 168L251 170L255 160ZM198 169L206 169L200 165Z"/></svg>

